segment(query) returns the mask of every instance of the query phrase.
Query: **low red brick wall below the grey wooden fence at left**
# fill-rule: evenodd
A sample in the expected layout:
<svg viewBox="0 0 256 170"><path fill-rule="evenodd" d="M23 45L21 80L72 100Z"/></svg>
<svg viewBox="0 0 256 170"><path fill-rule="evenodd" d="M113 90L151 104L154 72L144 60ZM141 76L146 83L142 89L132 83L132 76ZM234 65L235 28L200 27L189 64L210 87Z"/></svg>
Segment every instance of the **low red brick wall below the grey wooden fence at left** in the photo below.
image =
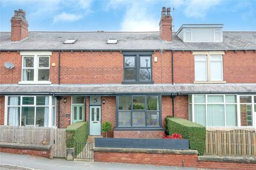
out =
<svg viewBox="0 0 256 170"><path fill-rule="evenodd" d="M31 155L50 158L50 150L31 150L31 149L14 149L14 148L0 148L0 152L6 152L10 154L21 154L21 155Z"/></svg>

